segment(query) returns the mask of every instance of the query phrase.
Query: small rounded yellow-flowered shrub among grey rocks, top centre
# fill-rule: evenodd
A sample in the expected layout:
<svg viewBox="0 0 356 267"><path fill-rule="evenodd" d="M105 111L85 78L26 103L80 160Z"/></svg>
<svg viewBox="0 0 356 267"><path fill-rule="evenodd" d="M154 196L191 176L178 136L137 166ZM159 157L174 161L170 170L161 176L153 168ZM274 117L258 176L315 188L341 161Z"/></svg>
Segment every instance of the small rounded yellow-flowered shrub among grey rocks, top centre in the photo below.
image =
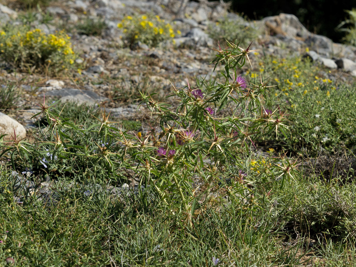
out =
<svg viewBox="0 0 356 267"><path fill-rule="evenodd" d="M122 28L124 38L131 47L137 42L154 47L164 40L172 40L175 36L172 25L164 22L158 15L126 16L117 27ZM176 33L179 35L180 31Z"/></svg>

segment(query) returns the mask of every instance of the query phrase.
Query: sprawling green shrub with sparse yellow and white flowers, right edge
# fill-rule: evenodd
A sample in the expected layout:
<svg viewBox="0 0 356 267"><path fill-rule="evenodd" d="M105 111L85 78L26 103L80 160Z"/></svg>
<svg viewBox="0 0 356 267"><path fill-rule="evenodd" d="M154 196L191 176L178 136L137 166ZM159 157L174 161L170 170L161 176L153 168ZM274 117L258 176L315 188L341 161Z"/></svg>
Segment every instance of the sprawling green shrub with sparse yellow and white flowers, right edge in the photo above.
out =
<svg viewBox="0 0 356 267"><path fill-rule="evenodd" d="M269 79L269 85L274 86L268 88L271 97L265 101L265 108L275 110L279 106L288 110L290 134L279 136L278 146L297 153L304 147L311 155L320 147L329 152L340 146L355 148L355 88L337 87L332 80L321 77L319 67L301 58L265 57L260 72L264 78L274 77ZM255 82L259 76L250 75ZM264 135L260 141L276 144L274 138Z"/></svg>

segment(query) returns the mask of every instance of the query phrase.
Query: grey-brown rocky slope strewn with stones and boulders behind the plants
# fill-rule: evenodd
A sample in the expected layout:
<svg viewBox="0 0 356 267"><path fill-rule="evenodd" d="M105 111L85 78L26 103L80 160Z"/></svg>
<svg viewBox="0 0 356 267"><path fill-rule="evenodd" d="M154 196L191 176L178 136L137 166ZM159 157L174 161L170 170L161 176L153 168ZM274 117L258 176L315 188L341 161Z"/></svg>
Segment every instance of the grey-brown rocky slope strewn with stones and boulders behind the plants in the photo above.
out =
<svg viewBox="0 0 356 267"><path fill-rule="evenodd" d="M38 12L31 25L48 33L67 29L74 50L80 56L77 63L84 68L81 73L74 73L71 77L48 77L45 74L19 73L2 64L1 82L19 82L23 93L17 109L6 110L6 114L0 112L0 132L12 133L15 128L20 138L26 136L26 131L30 135L35 122L30 118L38 112L36 104L42 103L43 94L48 101L61 99L63 102L69 100L100 105L111 110L111 115L119 119L143 121L145 116L142 115L146 111L144 108L138 110L138 90L154 91L158 93L158 98L163 98L171 91L171 82L182 87L186 84L186 77L194 80L196 76L215 75L212 74L213 66L209 64L214 52L209 48L217 47L218 43L209 37L208 29L209 25L215 25L225 16L257 30L257 38L248 40L253 41L251 50L281 57L306 56L332 70L328 74L329 79L354 81L355 47L334 43L325 36L309 32L294 15L280 14L261 21L246 21L227 10L228 5L222 2L204 0L51 1L42 13ZM17 1L4 1L0 5L0 24L10 22L20 25L24 12ZM51 23L43 24L41 22L46 12L54 19ZM164 42L157 48L149 48L141 43L135 49L124 47L121 38L123 33L117 28L117 23L127 15L147 13L172 21L179 28L182 35L175 38L175 45ZM108 28L101 36L77 33L77 23L88 17L105 20ZM306 52L307 47L309 52ZM251 53L254 67L257 66L258 57ZM242 71L248 68L246 65ZM142 127L145 127L144 123Z"/></svg>

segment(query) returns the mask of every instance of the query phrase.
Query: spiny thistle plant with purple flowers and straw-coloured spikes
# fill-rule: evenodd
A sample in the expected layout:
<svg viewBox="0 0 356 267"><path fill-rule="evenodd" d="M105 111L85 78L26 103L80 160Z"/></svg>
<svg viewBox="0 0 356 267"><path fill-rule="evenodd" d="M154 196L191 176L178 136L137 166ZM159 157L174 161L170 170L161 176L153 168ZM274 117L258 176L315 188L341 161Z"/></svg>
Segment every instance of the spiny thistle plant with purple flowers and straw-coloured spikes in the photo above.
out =
<svg viewBox="0 0 356 267"><path fill-rule="evenodd" d="M272 157L250 161L246 156L261 129L268 135L286 134L287 129L284 111L263 107L268 86L262 78L252 84L237 75L249 60L249 48L236 42L227 42L225 49L213 48L217 54L211 63L215 68L222 64L225 73L211 94L203 85L193 88L188 80L183 88L173 86L169 96L177 104L159 103L141 92L141 104L160 129L130 134L105 111L101 117L93 114L96 123L75 124L61 115L62 110L54 111L58 101L47 105L44 99L35 116L45 116L48 126L37 144L14 137L1 143L0 157L7 157L19 172L26 167L50 178L75 171L83 179L94 173L103 183L117 184L125 178L122 171L131 170L142 194L153 191L189 225L195 207L204 201L209 204L227 196L239 199L242 210L257 208L253 184L282 179L283 185L284 179L294 179L296 162ZM227 110L229 114L223 115Z"/></svg>

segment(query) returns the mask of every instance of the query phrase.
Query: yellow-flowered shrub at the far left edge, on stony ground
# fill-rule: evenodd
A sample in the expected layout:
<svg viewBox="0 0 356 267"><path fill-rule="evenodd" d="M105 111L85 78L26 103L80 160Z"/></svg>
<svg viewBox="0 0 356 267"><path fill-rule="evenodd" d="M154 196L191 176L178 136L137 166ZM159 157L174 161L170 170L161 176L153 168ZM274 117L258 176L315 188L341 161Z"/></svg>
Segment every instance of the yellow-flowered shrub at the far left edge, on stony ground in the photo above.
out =
<svg viewBox="0 0 356 267"><path fill-rule="evenodd" d="M0 31L0 57L20 70L66 71L75 61L69 39L63 31L46 34L40 29L7 26Z"/></svg>

